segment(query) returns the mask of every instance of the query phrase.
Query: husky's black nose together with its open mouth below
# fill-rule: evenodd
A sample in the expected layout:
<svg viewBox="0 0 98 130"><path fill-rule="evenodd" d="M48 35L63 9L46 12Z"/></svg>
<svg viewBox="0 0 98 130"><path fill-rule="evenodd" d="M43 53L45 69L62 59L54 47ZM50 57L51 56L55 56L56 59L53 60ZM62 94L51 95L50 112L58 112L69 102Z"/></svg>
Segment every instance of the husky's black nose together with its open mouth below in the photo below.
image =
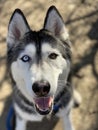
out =
<svg viewBox="0 0 98 130"><path fill-rule="evenodd" d="M49 96L49 82L37 81L32 85L32 90L36 94L34 102L37 112L41 115L49 114L53 104L53 97Z"/></svg>

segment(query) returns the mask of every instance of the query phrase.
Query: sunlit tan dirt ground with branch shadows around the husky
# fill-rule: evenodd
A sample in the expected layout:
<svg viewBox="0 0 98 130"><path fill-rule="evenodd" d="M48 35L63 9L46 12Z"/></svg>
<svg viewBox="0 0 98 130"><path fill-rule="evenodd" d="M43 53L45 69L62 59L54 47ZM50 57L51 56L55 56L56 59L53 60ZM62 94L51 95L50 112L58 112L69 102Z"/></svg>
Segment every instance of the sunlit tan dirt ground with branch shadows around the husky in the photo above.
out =
<svg viewBox="0 0 98 130"><path fill-rule="evenodd" d="M79 108L73 109L76 130L98 130L98 0L0 0L0 130L6 130L6 115L11 104L12 88L6 71L6 35L14 9L23 10L33 30L43 26L49 6L62 14L72 41L72 82L82 96ZM29 123L28 130L61 130L61 120L44 119Z"/></svg>

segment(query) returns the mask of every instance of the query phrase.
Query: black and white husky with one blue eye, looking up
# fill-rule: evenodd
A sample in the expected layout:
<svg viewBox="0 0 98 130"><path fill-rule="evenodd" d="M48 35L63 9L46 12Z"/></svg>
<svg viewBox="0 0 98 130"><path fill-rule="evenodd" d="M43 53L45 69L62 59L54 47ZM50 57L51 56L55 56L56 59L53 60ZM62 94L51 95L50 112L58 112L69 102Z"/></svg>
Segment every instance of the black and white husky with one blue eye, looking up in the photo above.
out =
<svg viewBox="0 0 98 130"><path fill-rule="evenodd" d="M20 9L13 12L8 26L7 62L13 81L15 130L26 130L27 121L52 115L63 119L64 130L73 130L71 42L55 6L48 9L39 31L31 30Z"/></svg>

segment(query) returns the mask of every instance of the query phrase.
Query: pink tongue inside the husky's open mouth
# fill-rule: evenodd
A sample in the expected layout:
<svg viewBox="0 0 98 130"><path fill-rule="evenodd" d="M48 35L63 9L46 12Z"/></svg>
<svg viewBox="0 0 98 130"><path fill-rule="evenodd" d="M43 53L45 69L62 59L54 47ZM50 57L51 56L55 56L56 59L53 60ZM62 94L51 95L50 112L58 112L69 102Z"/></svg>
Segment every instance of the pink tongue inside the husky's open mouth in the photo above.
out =
<svg viewBox="0 0 98 130"><path fill-rule="evenodd" d="M37 104L37 107L39 107L39 109L48 109L51 106L52 97L35 98L35 103Z"/></svg>

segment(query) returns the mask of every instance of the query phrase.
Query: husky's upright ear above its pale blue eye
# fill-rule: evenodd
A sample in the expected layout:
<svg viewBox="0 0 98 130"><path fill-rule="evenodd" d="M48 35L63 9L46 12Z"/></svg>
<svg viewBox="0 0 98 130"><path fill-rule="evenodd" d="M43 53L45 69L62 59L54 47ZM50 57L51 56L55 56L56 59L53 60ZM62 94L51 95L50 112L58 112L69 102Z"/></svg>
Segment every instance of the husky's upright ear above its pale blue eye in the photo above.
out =
<svg viewBox="0 0 98 130"><path fill-rule="evenodd" d="M30 31L30 27L27 20L20 9L16 9L12 14L12 17L8 26L7 44L11 47L19 39L21 39L25 33Z"/></svg>

